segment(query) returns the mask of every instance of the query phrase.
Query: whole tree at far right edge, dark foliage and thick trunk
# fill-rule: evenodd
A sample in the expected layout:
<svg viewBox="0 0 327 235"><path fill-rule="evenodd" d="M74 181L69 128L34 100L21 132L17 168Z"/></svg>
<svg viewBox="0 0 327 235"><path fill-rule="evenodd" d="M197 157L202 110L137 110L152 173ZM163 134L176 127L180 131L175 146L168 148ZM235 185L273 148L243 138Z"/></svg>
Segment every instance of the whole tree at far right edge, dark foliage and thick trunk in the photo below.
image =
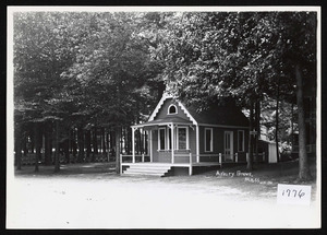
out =
<svg viewBox="0 0 327 235"><path fill-rule="evenodd" d="M299 125L299 178L312 178L307 162L305 121L303 108L303 85L316 79L316 38L317 15L315 12L279 13L284 38L282 59L288 64L286 73L293 78L296 85L298 125ZM311 89L311 87L307 87ZM314 93L312 95L315 95Z"/></svg>

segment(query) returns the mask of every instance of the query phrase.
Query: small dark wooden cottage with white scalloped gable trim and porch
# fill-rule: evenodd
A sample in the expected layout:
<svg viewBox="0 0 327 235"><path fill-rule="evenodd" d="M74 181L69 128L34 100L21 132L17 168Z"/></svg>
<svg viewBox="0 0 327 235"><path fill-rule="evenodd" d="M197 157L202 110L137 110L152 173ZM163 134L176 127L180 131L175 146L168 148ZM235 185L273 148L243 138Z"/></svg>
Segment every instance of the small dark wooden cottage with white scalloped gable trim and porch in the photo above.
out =
<svg viewBox="0 0 327 235"><path fill-rule="evenodd" d="M135 162L134 132L147 132L148 158ZM215 106L197 113L180 101L164 94L147 122L132 126L132 163L121 158L121 173L165 175L175 167L221 165L245 162L249 120L233 104ZM159 171L160 169L160 171Z"/></svg>

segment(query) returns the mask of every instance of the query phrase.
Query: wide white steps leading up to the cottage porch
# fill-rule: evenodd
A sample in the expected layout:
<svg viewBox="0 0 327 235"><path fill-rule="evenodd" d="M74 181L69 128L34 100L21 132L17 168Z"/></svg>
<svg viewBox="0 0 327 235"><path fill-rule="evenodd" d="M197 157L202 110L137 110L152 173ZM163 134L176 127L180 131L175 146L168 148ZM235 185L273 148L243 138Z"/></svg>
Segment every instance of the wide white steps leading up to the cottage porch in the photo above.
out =
<svg viewBox="0 0 327 235"><path fill-rule="evenodd" d="M171 166L165 165L130 165L130 167L123 172L123 175L165 176L170 169Z"/></svg>

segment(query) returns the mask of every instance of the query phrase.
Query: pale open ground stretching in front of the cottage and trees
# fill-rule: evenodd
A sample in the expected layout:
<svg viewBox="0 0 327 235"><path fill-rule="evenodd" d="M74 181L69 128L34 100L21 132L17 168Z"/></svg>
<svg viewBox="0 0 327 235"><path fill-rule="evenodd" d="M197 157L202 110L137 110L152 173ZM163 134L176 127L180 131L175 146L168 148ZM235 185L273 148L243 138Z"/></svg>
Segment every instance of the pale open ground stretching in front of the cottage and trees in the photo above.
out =
<svg viewBox="0 0 327 235"><path fill-rule="evenodd" d="M316 177L315 161L311 172ZM314 200L277 204L278 184L296 181L298 161L208 169L193 176L133 177L114 174L114 163L33 166L15 171L8 184L9 227L171 228L314 227ZM247 175L247 176L245 176ZM302 214L302 216L299 216Z"/></svg>

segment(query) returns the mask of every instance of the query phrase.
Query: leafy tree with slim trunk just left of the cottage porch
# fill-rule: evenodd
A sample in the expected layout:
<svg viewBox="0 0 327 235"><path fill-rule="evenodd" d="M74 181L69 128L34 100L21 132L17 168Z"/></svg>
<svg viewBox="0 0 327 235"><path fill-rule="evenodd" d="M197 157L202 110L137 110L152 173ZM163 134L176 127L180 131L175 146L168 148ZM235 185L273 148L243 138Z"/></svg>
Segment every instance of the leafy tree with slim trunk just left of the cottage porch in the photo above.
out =
<svg viewBox="0 0 327 235"><path fill-rule="evenodd" d="M61 74L78 111L88 114L87 124L114 129L118 166L122 127L152 104L147 80L156 70L140 31L142 21L135 13L94 14L76 61Z"/></svg>

